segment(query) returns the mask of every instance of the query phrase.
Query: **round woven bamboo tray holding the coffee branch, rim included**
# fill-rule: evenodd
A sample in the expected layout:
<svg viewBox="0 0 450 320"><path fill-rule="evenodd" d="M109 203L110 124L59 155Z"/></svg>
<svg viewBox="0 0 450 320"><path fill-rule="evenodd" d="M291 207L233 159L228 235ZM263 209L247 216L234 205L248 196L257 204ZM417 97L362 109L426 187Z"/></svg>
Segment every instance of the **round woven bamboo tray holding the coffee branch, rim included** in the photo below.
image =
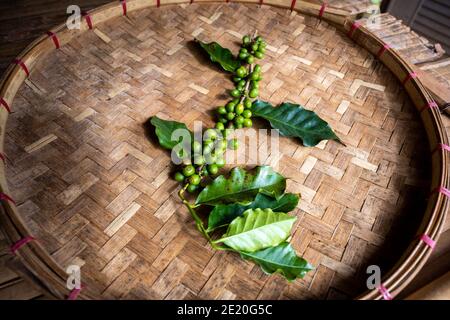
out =
<svg viewBox="0 0 450 320"><path fill-rule="evenodd" d="M420 78L341 10L206 2L116 1L88 12L79 30L50 30L10 66L0 89L0 216L11 259L59 299L73 297L74 264L80 299L398 296L448 207L447 136ZM305 105L346 143L283 138L282 156L260 161L302 194L292 244L316 269L292 283L208 246L143 126L156 114L212 125L227 80L189 41L236 50L255 29L269 43L261 99ZM381 267L382 287L367 290L369 265Z"/></svg>

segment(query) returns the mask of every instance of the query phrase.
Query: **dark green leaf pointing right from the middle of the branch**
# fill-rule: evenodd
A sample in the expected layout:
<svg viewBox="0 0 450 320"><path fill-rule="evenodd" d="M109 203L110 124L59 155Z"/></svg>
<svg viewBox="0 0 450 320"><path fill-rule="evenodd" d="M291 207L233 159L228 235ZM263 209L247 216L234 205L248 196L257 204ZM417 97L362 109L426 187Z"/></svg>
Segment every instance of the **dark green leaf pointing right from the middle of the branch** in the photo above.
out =
<svg viewBox="0 0 450 320"><path fill-rule="evenodd" d="M313 147L322 140L340 141L326 121L298 104L282 103L275 108L270 103L257 100L253 103L252 113L269 121L281 135L302 139L307 147Z"/></svg>

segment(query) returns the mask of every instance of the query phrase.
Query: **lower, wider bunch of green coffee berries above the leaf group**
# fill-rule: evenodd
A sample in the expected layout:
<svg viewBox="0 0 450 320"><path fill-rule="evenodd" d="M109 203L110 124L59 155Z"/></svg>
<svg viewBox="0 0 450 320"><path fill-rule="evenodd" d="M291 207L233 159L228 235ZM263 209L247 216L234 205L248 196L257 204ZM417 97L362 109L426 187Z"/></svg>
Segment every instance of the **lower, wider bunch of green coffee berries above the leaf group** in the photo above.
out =
<svg viewBox="0 0 450 320"><path fill-rule="evenodd" d="M181 157L183 169L175 173L175 180L183 182L188 192L195 192L201 185L203 178L215 176L219 169L225 165L224 153L227 149L236 150L238 140L227 140L229 130L220 132L217 129L208 129L205 131L203 143L194 140L191 146L190 157ZM189 155L185 149L181 154Z"/></svg>

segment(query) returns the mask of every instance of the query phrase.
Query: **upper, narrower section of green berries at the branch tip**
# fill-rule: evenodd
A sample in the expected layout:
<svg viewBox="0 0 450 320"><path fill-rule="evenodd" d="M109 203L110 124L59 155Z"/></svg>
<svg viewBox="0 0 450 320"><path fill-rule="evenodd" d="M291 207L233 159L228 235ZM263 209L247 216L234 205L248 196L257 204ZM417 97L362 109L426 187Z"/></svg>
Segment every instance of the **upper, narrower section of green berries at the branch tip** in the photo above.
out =
<svg viewBox="0 0 450 320"><path fill-rule="evenodd" d="M236 70L233 77L235 88L230 91L230 95L234 98L225 106L217 108L218 130L240 129L243 127L251 127L252 123L252 99L259 95L259 82L261 81L261 66L256 64L255 58L264 58L266 51L266 43L258 36L252 39L249 35L242 38L242 46L239 51L239 59L248 64L240 66Z"/></svg>

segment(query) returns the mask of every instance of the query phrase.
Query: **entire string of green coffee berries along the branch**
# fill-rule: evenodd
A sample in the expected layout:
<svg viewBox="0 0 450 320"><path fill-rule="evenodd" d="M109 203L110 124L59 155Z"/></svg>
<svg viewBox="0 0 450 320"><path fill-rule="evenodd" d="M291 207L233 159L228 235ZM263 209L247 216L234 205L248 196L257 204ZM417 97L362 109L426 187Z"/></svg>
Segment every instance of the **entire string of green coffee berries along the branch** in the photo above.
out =
<svg viewBox="0 0 450 320"><path fill-rule="evenodd" d="M190 146L182 150L186 157L183 168L175 173L175 180L182 182L188 192L195 192L207 176L214 176L225 165L224 153L227 148L236 150L239 146L237 139L228 139L233 129L251 127L252 99L259 95L259 81L261 81L261 66L256 64L255 58L264 57L266 43L261 37L251 38L246 35L242 39L239 59L248 66L241 66L233 77L235 89L231 90L233 97L225 106L217 108L218 122L215 129L208 129L204 134L203 143L194 140Z"/></svg>

